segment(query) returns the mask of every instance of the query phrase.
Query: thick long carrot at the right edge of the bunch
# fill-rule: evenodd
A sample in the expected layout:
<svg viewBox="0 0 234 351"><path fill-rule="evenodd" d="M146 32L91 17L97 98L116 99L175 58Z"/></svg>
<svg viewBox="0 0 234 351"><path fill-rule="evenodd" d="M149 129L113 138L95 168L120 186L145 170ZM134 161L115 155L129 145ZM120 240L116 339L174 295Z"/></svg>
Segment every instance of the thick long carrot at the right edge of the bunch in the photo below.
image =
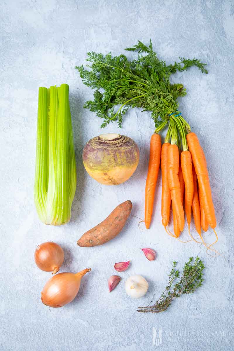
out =
<svg viewBox="0 0 234 351"><path fill-rule="evenodd" d="M212 194L209 184L208 170L206 166L206 159L204 159L201 145L195 133L188 133L186 135L189 151L192 155L193 164L196 175L198 176L198 184L200 187L200 203L202 203L205 212L206 221L214 229L216 227L216 218L214 211L214 204L212 201Z"/></svg>

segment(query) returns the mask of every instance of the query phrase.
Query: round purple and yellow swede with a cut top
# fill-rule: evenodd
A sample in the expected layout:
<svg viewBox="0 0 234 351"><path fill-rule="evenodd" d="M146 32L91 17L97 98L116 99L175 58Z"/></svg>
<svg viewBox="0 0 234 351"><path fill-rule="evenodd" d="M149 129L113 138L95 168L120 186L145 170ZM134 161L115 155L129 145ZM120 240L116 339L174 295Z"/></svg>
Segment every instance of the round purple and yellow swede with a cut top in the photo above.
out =
<svg viewBox="0 0 234 351"><path fill-rule="evenodd" d="M102 134L86 143L82 157L92 178L101 184L118 185L135 172L139 155L133 139L120 134Z"/></svg>

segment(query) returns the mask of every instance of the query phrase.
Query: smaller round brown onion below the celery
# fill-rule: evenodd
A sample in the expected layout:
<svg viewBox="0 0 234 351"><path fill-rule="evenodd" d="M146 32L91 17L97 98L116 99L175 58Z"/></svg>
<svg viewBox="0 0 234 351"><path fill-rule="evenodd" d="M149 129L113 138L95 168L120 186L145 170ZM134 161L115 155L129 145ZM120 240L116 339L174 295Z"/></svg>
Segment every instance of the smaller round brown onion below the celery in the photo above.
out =
<svg viewBox="0 0 234 351"><path fill-rule="evenodd" d="M58 244L47 241L37 246L34 259L42 271L55 274L63 264L64 252Z"/></svg>

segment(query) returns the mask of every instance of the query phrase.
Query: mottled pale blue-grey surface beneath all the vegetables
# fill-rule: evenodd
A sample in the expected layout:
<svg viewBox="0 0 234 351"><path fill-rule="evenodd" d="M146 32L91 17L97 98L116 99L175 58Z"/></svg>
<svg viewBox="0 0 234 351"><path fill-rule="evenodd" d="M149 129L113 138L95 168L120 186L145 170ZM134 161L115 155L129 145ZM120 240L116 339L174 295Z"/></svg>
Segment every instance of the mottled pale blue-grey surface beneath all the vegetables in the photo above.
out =
<svg viewBox="0 0 234 351"><path fill-rule="evenodd" d="M233 46L232 1L2 1L1 24L1 284L0 349L67 350L233 350ZM122 233L100 247L82 248L76 240L99 223L120 202L131 199L134 216L143 217L149 139L154 130L149 113L129 111L122 134L140 148L140 162L125 184L103 186L91 179L82 164L82 148L101 132L100 120L84 110L92 92L83 86L75 65L88 51L120 54L138 39L153 45L159 57L179 56L208 62L209 74L196 68L173 77L187 87L181 111L205 150L217 215L222 256L207 256L204 247L182 244L167 236L160 220L161 176L155 214L149 231L138 229L131 217ZM129 55L132 55L129 53ZM78 183L72 219L61 227L40 223L34 207L38 87L70 86ZM106 132L118 132L109 125ZM101 204L101 206L100 206ZM193 227L194 230L194 227ZM182 235L188 239L187 230ZM211 243L209 230L205 239ZM36 245L54 240L65 250L61 271L92 267L77 298L61 309L49 309L40 292L50 273L34 264ZM149 262L140 251L152 247ZM204 285L183 296L161 314L136 312L159 296L173 259L181 265L199 255L206 264ZM122 282L108 293L113 264L131 260ZM149 290L131 300L124 282L142 274Z"/></svg>

